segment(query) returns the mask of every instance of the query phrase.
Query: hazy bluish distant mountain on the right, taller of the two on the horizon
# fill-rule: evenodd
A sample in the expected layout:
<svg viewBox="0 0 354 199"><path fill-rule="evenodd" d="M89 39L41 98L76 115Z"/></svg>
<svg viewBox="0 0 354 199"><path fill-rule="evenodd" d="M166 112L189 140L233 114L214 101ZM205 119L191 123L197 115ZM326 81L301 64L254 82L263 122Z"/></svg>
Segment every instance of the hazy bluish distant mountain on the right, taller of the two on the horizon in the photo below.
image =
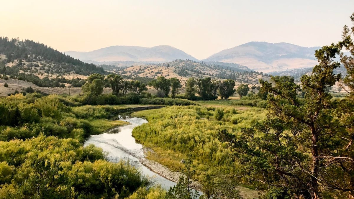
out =
<svg viewBox="0 0 354 199"><path fill-rule="evenodd" d="M203 61L238 63L250 69L268 73L295 68L313 67L318 62L315 50L320 47L302 47L288 43L249 42L218 52Z"/></svg>

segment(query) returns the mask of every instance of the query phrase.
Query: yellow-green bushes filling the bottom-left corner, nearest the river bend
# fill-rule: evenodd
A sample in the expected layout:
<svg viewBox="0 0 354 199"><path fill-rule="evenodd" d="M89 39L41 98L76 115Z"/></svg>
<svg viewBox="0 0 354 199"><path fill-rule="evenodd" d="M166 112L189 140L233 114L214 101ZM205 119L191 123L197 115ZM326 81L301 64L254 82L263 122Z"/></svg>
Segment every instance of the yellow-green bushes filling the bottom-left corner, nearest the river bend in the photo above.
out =
<svg viewBox="0 0 354 199"><path fill-rule="evenodd" d="M149 181L102 149L73 139L39 136L0 142L0 198L120 198ZM14 158L15 157L15 158Z"/></svg>

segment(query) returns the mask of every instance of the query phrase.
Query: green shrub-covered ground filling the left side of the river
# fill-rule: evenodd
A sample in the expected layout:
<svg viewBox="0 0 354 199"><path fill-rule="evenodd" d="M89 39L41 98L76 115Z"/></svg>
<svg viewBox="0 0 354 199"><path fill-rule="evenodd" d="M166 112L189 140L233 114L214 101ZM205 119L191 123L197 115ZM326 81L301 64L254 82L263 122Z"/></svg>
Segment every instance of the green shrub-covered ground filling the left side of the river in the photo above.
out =
<svg viewBox="0 0 354 199"><path fill-rule="evenodd" d="M135 168L82 145L89 135L125 124L106 119L121 107L70 105L37 93L0 99L0 198L126 198L141 190L151 195L145 198L164 197ZM85 117L80 112L89 109Z"/></svg>

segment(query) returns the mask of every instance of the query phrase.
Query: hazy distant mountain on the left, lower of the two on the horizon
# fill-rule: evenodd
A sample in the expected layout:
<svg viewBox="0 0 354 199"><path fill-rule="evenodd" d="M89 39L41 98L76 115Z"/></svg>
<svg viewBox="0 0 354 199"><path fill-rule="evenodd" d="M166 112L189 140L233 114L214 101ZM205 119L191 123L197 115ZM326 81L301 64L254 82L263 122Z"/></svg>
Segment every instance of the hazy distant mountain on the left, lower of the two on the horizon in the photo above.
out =
<svg viewBox="0 0 354 199"><path fill-rule="evenodd" d="M172 46L110 46L91 52L65 52L68 55L85 60L96 62L113 62L113 61L136 61L136 62L168 62L175 59L191 59L197 60L195 57L176 49Z"/></svg>

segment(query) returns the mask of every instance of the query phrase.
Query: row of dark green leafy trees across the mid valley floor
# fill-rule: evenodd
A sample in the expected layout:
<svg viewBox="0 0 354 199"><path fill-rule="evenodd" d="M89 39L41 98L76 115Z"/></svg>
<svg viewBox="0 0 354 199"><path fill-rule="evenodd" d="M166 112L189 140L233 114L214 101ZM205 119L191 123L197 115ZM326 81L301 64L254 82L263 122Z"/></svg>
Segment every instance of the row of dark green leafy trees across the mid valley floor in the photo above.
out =
<svg viewBox="0 0 354 199"><path fill-rule="evenodd" d="M182 88L181 81L177 78L158 78L148 82L148 86L153 86L157 91L157 97L175 98ZM125 80L120 75L110 74L106 78L101 74L92 74L86 79L86 83L82 86L84 95L98 96L103 92L103 87L110 87L112 94L115 96L124 96L127 92L133 92L140 95L143 91L147 91L147 86L139 80ZM227 80L212 80L211 78L189 78L185 85L185 99L196 100L213 100L220 96L222 99L228 99L236 90L235 81ZM241 85L238 89L240 96L244 96L249 91L247 85ZM171 95L170 95L171 93ZM198 96L196 96L198 94Z"/></svg>

